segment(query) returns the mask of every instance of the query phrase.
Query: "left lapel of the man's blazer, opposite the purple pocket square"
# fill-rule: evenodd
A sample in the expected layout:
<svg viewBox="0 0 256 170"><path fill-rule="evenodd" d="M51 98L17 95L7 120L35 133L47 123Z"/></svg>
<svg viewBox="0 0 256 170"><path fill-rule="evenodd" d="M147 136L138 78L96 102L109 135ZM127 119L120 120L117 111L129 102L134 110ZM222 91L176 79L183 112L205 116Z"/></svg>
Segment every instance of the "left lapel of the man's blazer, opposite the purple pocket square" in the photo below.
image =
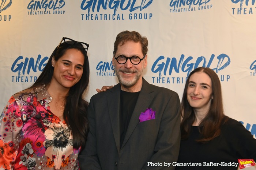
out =
<svg viewBox="0 0 256 170"><path fill-rule="evenodd" d="M120 90L120 84L117 84L109 90L112 93L109 93L107 99L110 121L118 153L120 150Z"/></svg>

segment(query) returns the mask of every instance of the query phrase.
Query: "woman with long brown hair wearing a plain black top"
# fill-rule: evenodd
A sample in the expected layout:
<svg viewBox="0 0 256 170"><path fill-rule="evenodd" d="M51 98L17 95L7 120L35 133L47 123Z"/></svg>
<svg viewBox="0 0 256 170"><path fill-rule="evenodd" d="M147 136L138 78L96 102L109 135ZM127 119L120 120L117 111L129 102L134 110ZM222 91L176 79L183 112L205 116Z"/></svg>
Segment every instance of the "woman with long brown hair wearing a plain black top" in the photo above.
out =
<svg viewBox="0 0 256 170"><path fill-rule="evenodd" d="M188 76L181 115L181 164L176 169L236 170L238 159L256 160L256 139L224 114L221 82L210 68L196 68Z"/></svg>

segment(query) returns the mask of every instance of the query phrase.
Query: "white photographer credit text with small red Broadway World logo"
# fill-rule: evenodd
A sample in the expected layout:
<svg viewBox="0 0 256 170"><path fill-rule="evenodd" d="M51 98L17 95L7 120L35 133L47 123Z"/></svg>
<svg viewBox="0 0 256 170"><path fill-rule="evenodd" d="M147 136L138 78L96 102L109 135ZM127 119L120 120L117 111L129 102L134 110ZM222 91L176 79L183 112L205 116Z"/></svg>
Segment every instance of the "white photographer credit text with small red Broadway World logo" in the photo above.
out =
<svg viewBox="0 0 256 170"><path fill-rule="evenodd" d="M182 169L243 169L249 166L255 166L253 159L238 159L238 162L147 162L147 166L165 166L169 167L182 167ZM256 166L255 166L256 169Z"/></svg>

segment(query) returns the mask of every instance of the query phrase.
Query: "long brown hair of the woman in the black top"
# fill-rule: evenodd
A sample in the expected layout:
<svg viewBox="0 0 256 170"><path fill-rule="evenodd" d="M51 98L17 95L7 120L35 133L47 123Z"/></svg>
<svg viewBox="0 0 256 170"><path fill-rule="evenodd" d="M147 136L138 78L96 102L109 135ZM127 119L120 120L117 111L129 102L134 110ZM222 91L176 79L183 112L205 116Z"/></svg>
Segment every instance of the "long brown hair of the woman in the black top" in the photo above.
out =
<svg viewBox="0 0 256 170"><path fill-rule="evenodd" d="M221 82L219 81L218 75L206 67L198 67L193 70L186 81L182 100L181 100L181 139L186 139L191 131L191 125L195 121L195 113L193 107L188 103L187 90L188 83L191 75L196 72L204 72L211 78L212 83L212 96L211 106L208 114L199 124L199 131L202 135L201 139L197 142L207 143L215 137L218 137L221 133L221 125L227 121L227 116L224 115L223 103L222 103L222 92L221 92Z"/></svg>

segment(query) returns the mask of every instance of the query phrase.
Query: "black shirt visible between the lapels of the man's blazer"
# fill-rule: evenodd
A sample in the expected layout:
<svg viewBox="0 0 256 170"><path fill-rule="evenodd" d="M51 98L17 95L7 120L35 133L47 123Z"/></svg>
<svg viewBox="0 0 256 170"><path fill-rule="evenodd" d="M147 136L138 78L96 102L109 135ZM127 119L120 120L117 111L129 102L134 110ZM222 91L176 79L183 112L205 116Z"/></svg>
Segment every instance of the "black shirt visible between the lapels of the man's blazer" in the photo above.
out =
<svg viewBox="0 0 256 170"><path fill-rule="evenodd" d="M135 104L140 92L122 91L120 94L120 149L132 117Z"/></svg>

